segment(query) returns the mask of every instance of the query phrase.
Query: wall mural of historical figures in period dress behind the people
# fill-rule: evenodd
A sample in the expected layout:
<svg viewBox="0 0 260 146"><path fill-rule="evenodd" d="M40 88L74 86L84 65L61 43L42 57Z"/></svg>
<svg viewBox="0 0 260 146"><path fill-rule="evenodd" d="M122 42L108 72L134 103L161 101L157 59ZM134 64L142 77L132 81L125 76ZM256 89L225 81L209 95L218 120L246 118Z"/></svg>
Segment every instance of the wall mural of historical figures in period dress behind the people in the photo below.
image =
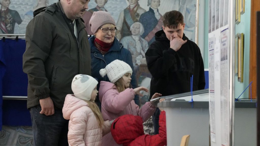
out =
<svg viewBox="0 0 260 146"><path fill-rule="evenodd" d="M33 18L33 11L57 0L0 0L1 34L25 34L26 26ZM178 10L184 16L185 35L195 38L196 0L91 0L82 16L86 30L94 11L109 12L116 22L116 38L132 53L138 84L150 88L151 74L146 65L145 52L155 40L155 32L162 29L162 15ZM142 93L141 104L148 101L149 93Z"/></svg>

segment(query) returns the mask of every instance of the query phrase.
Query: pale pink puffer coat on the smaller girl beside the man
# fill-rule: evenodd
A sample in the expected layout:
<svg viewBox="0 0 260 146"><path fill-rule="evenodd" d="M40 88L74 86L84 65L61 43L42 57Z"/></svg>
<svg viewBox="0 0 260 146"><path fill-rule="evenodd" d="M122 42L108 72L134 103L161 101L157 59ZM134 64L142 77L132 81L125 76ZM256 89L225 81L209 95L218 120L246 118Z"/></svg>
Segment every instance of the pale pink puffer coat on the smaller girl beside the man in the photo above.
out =
<svg viewBox="0 0 260 146"><path fill-rule="evenodd" d="M99 128L98 121L88 103L68 94L62 108L63 117L69 120L69 145L100 146L102 136L110 132L109 121Z"/></svg>

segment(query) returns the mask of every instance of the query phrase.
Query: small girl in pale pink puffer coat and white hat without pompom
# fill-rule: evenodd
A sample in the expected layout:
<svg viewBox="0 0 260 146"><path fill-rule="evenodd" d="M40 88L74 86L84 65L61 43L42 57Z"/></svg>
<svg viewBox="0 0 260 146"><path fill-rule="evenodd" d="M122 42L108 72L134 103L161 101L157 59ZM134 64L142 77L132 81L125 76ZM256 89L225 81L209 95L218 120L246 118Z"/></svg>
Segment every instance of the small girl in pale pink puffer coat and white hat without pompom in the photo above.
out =
<svg viewBox="0 0 260 146"><path fill-rule="evenodd" d="M76 75L71 84L74 94L68 94L62 109L69 120L69 145L100 146L102 136L110 132L110 123L102 118L94 102L97 81L88 75Z"/></svg>

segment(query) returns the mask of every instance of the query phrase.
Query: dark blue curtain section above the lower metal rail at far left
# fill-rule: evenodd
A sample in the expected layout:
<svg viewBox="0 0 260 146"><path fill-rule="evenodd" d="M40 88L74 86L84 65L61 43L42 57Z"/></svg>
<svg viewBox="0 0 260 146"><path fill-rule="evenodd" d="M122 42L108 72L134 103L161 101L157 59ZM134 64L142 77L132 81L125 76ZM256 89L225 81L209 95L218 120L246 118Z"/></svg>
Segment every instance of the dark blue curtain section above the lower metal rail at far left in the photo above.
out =
<svg viewBox="0 0 260 146"><path fill-rule="evenodd" d="M0 42L6 65L2 81L3 96L27 96L28 78L23 72L25 40L5 39Z"/></svg>

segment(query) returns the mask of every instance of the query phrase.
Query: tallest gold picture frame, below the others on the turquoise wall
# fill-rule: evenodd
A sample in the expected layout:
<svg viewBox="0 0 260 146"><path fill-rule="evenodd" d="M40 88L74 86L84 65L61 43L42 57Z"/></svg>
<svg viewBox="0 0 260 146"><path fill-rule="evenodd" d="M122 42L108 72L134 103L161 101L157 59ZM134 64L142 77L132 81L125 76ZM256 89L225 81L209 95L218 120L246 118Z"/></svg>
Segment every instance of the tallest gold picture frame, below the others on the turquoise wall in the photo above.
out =
<svg viewBox="0 0 260 146"><path fill-rule="evenodd" d="M244 34L238 35L238 81L243 82L244 75Z"/></svg>

